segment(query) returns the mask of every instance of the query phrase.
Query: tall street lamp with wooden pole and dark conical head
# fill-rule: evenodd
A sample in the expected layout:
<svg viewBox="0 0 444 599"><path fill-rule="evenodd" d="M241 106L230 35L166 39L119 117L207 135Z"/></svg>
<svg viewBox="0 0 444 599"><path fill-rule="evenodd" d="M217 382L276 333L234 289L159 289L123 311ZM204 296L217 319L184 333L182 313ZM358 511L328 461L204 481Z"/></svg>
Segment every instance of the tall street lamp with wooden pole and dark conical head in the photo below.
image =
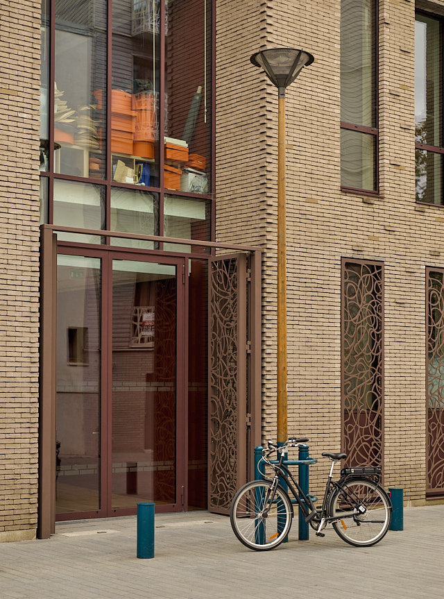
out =
<svg viewBox="0 0 444 599"><path fill-rule="evenodd" d="M278 87L278 445L287 440L287 254L285 217L285 90L314 57L295 48L256 52L250 61L262 67Z"/></svg>

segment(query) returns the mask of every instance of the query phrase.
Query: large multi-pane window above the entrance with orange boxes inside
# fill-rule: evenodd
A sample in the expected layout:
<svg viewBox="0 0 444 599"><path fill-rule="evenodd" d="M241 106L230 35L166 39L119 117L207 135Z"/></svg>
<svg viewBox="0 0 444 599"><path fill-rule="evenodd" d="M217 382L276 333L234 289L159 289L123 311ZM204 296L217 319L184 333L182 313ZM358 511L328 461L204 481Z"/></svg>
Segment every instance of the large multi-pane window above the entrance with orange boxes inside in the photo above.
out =
<svg viewBox="0 0 444 599"><path fill-rule="evenodd" d="M189 200L190 207L194 196L211 192L213 3L42 1L40 162L42 178L56 182L48 185L44 219L210 239L209 203L196 203L203 221L178 220L168 206ZM165 192L181 197L164 199ZM127 245L158 248L135 239Z"/></svg>

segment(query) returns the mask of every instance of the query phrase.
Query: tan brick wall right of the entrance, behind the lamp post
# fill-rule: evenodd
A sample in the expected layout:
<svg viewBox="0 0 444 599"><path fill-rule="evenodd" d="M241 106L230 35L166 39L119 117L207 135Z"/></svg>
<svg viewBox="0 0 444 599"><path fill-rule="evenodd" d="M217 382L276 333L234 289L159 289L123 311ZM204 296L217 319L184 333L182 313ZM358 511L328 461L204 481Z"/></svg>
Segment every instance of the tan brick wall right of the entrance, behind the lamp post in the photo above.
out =
<svg viewBox="0 0 444 599"><path fill-rule="evenodd" d="M277 93L248 60L276 46L316 62L287 90L289 433L341 443L341 258L384 262L386 486L425 498L425 268L444 267L444 208L415 203L414 10L379 3L381 197L340 190L340 1L217 3L217 239L262 244L263 438L275 438ZM444 2L436 6L441 14ZM235 43L237 40L237 43Z"/></svg>

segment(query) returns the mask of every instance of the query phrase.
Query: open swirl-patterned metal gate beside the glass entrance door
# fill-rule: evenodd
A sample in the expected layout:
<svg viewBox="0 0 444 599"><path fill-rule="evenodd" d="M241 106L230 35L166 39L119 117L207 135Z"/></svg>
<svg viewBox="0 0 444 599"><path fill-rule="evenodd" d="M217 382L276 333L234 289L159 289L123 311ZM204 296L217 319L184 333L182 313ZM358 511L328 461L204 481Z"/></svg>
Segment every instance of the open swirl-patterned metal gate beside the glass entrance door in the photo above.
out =
<svg viewBox="0 0 444 599"><path fill-rule="evenodd" d="M210 269L209 509L228 514L246 482L246 255Z"/></svg>

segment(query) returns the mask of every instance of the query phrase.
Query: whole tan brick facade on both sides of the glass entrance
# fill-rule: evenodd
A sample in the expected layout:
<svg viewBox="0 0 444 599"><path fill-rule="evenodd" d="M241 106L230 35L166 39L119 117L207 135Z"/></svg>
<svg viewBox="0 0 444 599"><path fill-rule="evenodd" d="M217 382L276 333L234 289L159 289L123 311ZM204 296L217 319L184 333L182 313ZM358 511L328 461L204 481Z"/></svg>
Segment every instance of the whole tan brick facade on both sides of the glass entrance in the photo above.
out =
<svg viewBox="0 0 444 599"><path fill-rule="evenodd" d="M39 396L42 402L38 387L41 6L40 2L24 7L1 0L0 8L0 52L6 65L0 81L4 125L0 181L0 541L6 541L33 538L37 525L37 466L42 446L38 428ZM214 8L215 27L209 31L216 35L207 49L214 44L216 50L216 187L214 197L210 192L203 197L209 203L214 199L216 205L211 239L262 248L262 441L274 439L276 434L278 102L275 87L250 65L249 58L267 47L300 47L313 53L315 62L303 69L287 90L289 432L310 439L310 453L318 457L318 464L311 467L311 488L319 493L327 473L321 452L339 450L352 439L344 432L348 410L344 403L348 364L345 281L353 269L356 272L357 265L370 265L371 273L374 277L380 273L381 281L376 311L381 315L382 328L375 342L380 348L376 353L370 349L378 364L377 390L372 389L372 394L379 394L378 459L384 466L384 486L403 487L404 498L411 503L425 503L426 496L429 501L439 500L439 493L427 493L427 406L431 405L431 392L429 389L427 394L426 381L432 362L430 345L427 351L431 323L427 317L426 269L440 273L444 268L444 214L442 199L436 203L418 201L415 193L415 10L444 17L444 1L418 0L416 6L410 0L378 3L377 188L370 193L341 187L341 1L217 0ZM17 10L26 19L18 21ZM182 59L180 56L176 62L179 82L186 80ZM171 76L174 64L170 53L171 85L175 81ZM111 89L111 83L108 85ZM194 87L189 86L190 94ZM176 121L182 128L183 115L174 108L180 106L178 95L170 106L178 111ZM208 110L210 106L211 102ZM172 118L170 122L176 121ZM210 153L207 125L199 121L196 130L205 152ZM343 165L345 156L346 151ZM162 161L159 164L162 167ZM52 171L48 180L51 177ZM56 174L54 180L61 178ZM87 178L80 177L85 183ZM108 187L110 181L108 178ZM159 188L163 198L162 185ZM185 194L187 197L192 199ZM208 216L209 209L206 211ZM167 221L167 212L165 215ZM47 221L43 218L42 222ZM180 222L173 219L170 230L182 230ZM208 228L202 223L202 219L191 223L197 231L191 238L209 239ZM168 235L162 230L143 233ZM174 252L172 246L169 249ZM157 254L157 260L161 258ZM174 260L178 267L179 258ZM195 297L206 293L198 292L200 284L193 285ZM193 307L189 309L194 322L196 314L192 317ZM194 369L199 370L196 364ZM193 405L194 413L206 397L201 382L195 382L202 397ZM365 425L359 430L366 432ZM438 447L441 442L436 441ZM202 496L201 491L196 495Z"/></svg>

